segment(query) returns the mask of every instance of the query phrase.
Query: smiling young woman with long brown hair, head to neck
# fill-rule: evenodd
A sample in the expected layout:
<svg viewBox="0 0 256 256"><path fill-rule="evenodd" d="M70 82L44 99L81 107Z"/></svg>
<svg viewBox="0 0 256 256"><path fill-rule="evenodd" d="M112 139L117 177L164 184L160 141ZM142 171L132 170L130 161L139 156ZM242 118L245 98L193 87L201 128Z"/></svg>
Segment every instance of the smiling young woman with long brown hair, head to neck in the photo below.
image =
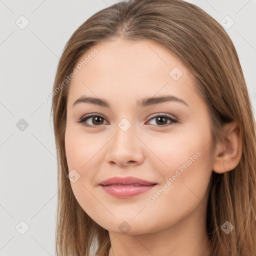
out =
<svg viewBox="0 0 256 256"><path fill-rule="evenodd" d="M68 40L52 95L57 255L255 255L252 106L202 9L98 11Z"/></svg>

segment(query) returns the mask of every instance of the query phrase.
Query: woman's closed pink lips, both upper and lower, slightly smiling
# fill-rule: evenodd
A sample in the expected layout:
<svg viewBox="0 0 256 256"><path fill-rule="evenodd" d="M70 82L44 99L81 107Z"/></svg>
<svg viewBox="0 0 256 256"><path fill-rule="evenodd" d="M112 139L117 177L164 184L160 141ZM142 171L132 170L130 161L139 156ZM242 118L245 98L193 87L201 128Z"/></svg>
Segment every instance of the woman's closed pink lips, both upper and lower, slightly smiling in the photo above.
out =
<svg viewBox="0 0 256 256"><path fill-rule="evenodd" d="M104 189L106 193L112 196L127 198L141 194L153 188L156 183L128 176L108 178L102 181L99 185Z"/></svg>

